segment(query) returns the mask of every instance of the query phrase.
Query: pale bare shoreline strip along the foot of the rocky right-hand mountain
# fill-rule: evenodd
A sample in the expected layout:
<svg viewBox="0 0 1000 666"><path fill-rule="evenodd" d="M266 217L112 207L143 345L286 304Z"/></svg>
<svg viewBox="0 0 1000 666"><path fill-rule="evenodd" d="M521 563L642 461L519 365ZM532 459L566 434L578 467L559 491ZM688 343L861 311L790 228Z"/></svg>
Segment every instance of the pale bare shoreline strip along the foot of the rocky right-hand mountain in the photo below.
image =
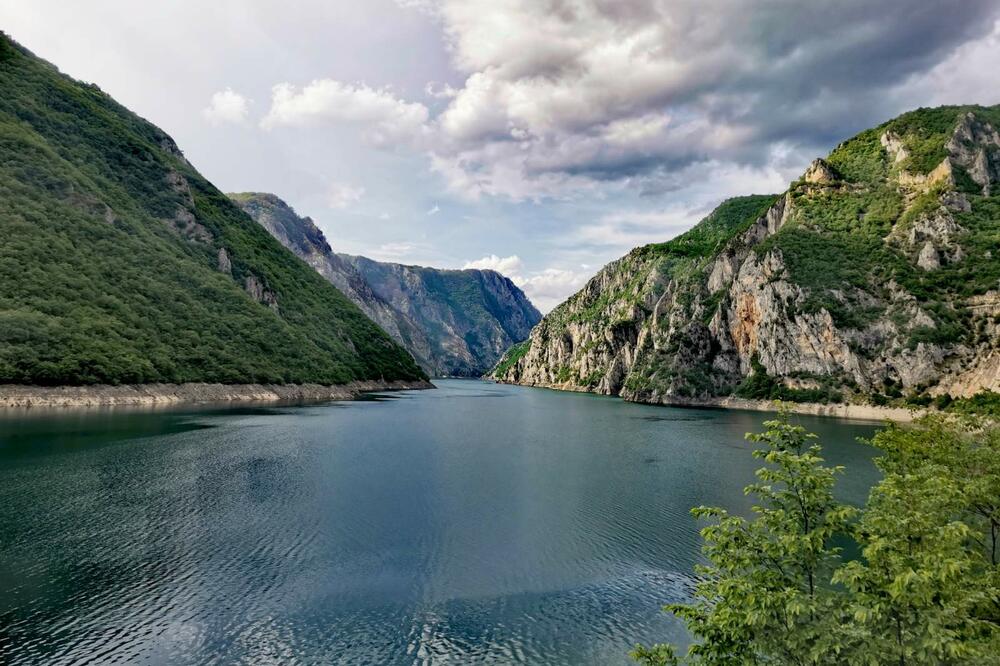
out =
<svg viewBox="0 0 1000 666"><path fill-rule="evenodd" d="M659 405L662 407L705 407L710 409L740 409L754 412L776 412L775 401L773 400L747 400L745 398L725 397L709 398L703 400L688 398L673 398L670 400L634 400L624 398L621 394L597 393L588 391L586 388L576 385L560 384L518 384L516 382L504 382L493 379L498 384L512 384L514 386L528 386L532 388L545 388L553 391L567 391L570 393L589 393L591 395L605 395L612 398L619 398L625 402L632 402L637 405ZM879 407L877 405L851 405L846 403L817 403L817 402L785 402L788 410L793 414L807 414L811 416L830 416L839 419L850 419L855 421L895 421L897 423L909 423L915 419L928 414L926 409L907 409L905 407Z"/></svg>

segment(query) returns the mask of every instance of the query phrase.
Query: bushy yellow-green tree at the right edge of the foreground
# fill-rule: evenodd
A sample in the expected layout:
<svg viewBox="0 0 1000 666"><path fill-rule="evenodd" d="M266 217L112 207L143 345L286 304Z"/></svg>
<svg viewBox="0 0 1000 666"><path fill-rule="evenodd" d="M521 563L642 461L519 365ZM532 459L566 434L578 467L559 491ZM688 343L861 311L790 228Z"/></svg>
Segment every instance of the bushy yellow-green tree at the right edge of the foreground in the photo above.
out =
<svg viewBox="0 0 1000 666"><path fill-rule="evenodd" d="M1000 430L975 420L890 426L885 478L834 575L850 593L854 664L987 664L1000 654Z"/></svg>

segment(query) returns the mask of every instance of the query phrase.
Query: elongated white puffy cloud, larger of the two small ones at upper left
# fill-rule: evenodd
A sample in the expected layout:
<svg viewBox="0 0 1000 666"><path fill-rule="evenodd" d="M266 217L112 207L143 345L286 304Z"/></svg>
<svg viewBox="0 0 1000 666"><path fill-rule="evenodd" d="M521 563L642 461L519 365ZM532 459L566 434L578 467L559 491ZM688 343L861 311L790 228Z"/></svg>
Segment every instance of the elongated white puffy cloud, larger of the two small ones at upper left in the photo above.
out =
<svg viewBox="0 0 1000 666"><path fill-rule="evenodd" d="M319 79L301 90L290 83L274 86L261 127L354 125L369 143L391 146L419 138L428 116L423 104L401 100L387 88Z"/></svg>

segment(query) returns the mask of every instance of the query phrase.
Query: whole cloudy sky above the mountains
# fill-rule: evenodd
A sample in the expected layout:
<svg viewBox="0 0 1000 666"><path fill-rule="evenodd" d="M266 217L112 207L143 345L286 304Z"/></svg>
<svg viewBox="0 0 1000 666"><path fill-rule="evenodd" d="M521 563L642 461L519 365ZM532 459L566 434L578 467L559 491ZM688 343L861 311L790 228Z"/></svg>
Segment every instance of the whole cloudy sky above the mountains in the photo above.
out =
<svg viewBox="0 0 1000 666"><path fill-rule="evenodd" d="M860 130L1000 103L1000 0L0 0L0 29L335 250L543 312Z"/></svg>

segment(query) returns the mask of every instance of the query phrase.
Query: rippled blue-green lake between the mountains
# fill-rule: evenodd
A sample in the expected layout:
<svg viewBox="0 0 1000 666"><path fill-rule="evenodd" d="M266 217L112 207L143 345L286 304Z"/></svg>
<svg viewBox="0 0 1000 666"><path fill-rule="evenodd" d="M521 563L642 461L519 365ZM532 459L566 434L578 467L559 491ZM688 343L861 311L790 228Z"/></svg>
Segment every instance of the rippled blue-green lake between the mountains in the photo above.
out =
<svg viewBox="0 0 1000 666"><path fill-rule="evenodd" d="M627 664L749 507L765 414L468 380L372 400L0 412L0 663ZM795 417L877 479L872 424Z"/></svg>

